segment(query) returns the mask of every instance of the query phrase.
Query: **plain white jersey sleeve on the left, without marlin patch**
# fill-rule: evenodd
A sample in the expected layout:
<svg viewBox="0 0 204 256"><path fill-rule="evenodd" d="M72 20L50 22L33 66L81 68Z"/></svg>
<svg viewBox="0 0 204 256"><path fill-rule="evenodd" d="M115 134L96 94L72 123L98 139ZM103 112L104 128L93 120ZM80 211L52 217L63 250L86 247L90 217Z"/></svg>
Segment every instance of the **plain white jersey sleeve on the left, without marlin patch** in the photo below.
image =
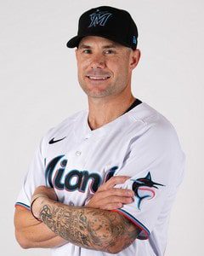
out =
<svg viewBox="0 0 204 256"><path fill-rule="evenodd" d="M20 189L20 194L18 195L17 201L15 203L15 207L26 207L26 209L30 210L31 195L33 195L34 190L38 186L46 185L43 161L41 141L35 151L33 159L31 160L31 164L24 178L23 185Z"/></svg>

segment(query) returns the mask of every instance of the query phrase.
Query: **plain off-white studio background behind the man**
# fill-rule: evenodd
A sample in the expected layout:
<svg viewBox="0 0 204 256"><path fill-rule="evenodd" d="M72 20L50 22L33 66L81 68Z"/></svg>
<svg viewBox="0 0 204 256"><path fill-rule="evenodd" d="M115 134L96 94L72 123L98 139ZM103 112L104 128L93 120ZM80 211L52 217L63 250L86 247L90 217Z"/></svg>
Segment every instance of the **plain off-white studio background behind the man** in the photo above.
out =
<svg viewBox="0 0 204 256"><path fill-rule="evenodd" d="M172 122L187 156L165 256L204 255L201 0L0 1L1 255L49 255L47 249L23 250L15 241L14 202L43 134L88 108L74 50L65 44L77 34L82 12L99 5L127 9L136 21L142 56L133 95Z"/></svg>

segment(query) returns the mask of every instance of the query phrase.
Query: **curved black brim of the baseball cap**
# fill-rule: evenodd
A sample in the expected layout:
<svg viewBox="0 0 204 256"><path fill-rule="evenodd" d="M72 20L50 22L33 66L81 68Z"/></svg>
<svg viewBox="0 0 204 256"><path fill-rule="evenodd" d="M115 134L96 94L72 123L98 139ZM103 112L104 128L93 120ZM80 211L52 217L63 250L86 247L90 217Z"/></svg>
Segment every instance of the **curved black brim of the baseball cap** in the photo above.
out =
<svg viewBox="0 0 204 256"><path fill-rule="evenodd" d="M96 37L101 37L101 38L107 38L111 41L114 41L116 43L119 43L119 44L122 44L126 47L129 47L129 48L132 48L131 45L128 45L128 44L125 44L124 42L121 41L120 38L116 38L114 36L111 36L111 35L107 35L107 34L101 34L101 32L98 34L98 33L91 33L91 34L86 34L86 35L82 35L82 36L76 36L74 38L71 38L67 43L66 43L66 46L68 48L74 48L74 47L77 47L79 42L82 40L82 38L84 37L88 37L88 36L96 36ZM135 49L136 49L136 45L135 45Z"/></svg>

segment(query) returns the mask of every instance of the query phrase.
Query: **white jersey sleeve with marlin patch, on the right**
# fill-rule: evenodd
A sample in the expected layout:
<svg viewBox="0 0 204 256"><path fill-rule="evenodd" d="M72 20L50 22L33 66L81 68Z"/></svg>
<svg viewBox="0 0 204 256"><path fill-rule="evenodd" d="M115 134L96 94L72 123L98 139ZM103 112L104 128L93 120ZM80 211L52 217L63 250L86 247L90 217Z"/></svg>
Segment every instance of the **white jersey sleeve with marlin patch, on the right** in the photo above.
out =
<svg viewBox="0 0 204 256"><path fill-rule="evenodd" d="M135 137L122 167L115 175L127 175L126 183L116 185L133 189L134 201L114 210L139 227L139 239L148 239L159 218L166 218L184 174L185 154L172 125L152 125Z"/></svg>

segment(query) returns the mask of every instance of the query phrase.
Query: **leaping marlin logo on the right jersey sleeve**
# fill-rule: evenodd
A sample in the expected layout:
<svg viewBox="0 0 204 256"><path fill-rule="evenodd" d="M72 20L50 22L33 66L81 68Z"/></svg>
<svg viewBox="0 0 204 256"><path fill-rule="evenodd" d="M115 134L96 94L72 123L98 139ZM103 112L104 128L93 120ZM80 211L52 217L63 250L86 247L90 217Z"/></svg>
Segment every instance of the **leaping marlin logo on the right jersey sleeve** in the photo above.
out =
<svg viewBox="0 0 204 256"><path fill-rule="evenodd" d="M140 177L136 180L133 180L133 191L134 195L136 196L136 203L137 207L140 210L140 204L145 199L148 198L149 200L155 197L155 191L153 188L158 189L158 186L164 186L160 183L155 183L151 180L150 172L148 172L146 177ZM151 189L150 189L151 188Z"/></svg>

